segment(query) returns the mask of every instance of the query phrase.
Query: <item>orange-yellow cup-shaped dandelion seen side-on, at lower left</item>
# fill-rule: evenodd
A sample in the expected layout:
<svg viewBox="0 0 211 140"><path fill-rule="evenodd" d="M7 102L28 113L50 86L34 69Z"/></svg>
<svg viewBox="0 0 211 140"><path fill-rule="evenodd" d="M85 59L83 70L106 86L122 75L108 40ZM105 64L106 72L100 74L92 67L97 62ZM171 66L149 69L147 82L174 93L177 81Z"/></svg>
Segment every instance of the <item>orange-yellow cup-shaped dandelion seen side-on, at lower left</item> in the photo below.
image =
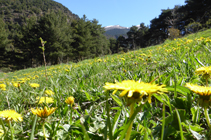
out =
<svg viewBox="0 0 211 140"><path fill-rule="evenodd" d="M31 108L31 112L34 115L38 115L41 118L47 118L48 116L50 116L51 114L53 114L55 112L55 110L57 109L57 107L52 107L50 109L48 109L46 106L44 107L44 109L39 109L39 108Z"/></svg>

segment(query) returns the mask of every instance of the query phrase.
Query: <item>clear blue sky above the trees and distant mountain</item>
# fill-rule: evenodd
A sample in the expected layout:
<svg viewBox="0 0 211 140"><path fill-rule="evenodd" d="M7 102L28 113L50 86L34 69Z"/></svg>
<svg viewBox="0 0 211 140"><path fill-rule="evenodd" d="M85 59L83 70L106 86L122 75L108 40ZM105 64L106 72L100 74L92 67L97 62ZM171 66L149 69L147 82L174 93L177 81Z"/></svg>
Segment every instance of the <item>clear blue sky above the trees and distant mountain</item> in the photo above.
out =
<svg viewBox="0 0 211 140"><path fill-rule="evenodd" d="M54 0L67 7L80 18L97 19L104 26L131 27L144 23L161 14L161 9L185 5L185 0Z"/></svg>

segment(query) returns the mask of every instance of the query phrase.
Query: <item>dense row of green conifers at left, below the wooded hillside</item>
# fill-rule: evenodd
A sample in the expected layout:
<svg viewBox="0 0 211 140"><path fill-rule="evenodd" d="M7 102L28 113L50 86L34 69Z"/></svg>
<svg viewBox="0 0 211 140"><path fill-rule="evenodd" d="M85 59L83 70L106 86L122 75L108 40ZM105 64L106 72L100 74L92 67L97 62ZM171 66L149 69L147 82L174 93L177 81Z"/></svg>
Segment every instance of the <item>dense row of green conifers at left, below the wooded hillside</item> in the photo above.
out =
<svg viewBox="0 0 211 140"><path fill-rule="evenodd" d="M38 18L31 16L19 26L19 32L9 40L6 24L0 21L1 67L13 69L36 67L43 63L40 37L45 44L46 61L49 65L67 61L80 61L110 53L104 29L97 20L84 16L68 22L61 12L50 12Z"/></svg>

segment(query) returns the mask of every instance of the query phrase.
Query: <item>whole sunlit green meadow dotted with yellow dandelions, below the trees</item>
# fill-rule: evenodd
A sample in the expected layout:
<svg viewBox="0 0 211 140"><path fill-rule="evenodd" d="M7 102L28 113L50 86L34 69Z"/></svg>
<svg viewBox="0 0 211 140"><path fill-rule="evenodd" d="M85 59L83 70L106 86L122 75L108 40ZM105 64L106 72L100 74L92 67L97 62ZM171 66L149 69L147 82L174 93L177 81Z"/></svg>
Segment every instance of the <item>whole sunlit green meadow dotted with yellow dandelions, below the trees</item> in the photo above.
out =
<svg viewBox="0 0 211 140"><path fill-rule="evenodd" d="M47 66L46 74L44 66L0 73L1 138L210 139L210 52L206 30L137 51ZM188 83L206 87L206 95Z"/></svg>

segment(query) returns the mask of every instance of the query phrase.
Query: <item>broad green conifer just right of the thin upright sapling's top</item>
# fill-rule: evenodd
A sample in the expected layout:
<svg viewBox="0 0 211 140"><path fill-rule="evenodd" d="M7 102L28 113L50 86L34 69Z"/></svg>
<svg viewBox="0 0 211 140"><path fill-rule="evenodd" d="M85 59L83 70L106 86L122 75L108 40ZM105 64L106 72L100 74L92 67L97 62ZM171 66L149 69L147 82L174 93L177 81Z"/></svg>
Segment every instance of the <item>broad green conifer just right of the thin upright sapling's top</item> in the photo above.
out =
<svg viewBox="0 0 211 140"><path fill-rule="evenodd" d="M38 21L37 36L47 41L45 52L47 62L57 64L63 62L71 53L72 42L70 22L61 12L50 12Z"/></svg>

